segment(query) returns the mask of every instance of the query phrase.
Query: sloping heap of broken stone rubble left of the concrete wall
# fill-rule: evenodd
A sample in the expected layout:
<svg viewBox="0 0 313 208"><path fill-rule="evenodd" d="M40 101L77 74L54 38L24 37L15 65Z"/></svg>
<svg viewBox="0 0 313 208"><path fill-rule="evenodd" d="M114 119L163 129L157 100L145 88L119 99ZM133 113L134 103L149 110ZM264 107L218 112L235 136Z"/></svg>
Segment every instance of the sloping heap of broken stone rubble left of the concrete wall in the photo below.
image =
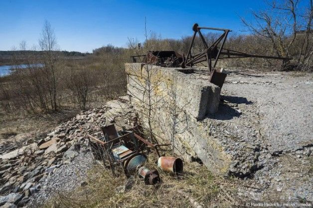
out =
<svg viewBox="0 0 313 208"><path fill-rule="evenodd" d="M85 163L85 169L92 166L92 155L82 152L88 152L88 140L84 135L98 130L99 126L105 124L115 123L120 127L132 127L135 114L125 102L127 98L122 99L123 101L110 101L105 106L82 112L70 121L60 124L45 138L29 139L20 148L10 142L2 143L0 206L24 207L29 201L32 205L44 202L52 194L48 192L49 186L56 184L59 184L57 188L61 189L67 182L69 185L65 187L73 189L75 172L68 172L72 165L70 163L75 164L72 161L76 157L89 157L91 161ZM80 156L81 154L84 156ZM80 166L80 163L77 165ZM58 172L63 167L65 170Z"/></svg>

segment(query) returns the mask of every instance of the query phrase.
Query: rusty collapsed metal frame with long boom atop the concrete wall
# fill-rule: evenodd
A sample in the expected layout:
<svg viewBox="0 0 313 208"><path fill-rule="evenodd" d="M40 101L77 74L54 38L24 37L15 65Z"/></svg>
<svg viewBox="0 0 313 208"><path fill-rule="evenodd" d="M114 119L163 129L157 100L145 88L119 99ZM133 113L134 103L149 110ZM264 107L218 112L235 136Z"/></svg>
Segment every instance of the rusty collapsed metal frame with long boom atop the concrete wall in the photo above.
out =
<svg viewBox="0 0 313 208"><path fill-rule="evenodd" d="M223 31L223 33L212 43L208 44L205 37L203 36L201 30L215 30L215 31ZM141 63L149 63L157 66L165 66L165 67L192 67L197 63L206 62L206 66L210 72L210 82L222 87L224 80L226 78L226 73L219 68L216 68L216 64L219 59L223 58L247 58L247 57L255 57L255 58L271 58L271 59L280 59L284 62L290 60L290 58L286 57L277 57L277 56L264 56L264 55L256 55L256 54L248 54L236 50L230 50L224 48L224 43L227 39L228 33L231 31L230 29L224 28L213 28L213 27L200 27L197 23L192 26L193 36L191 43L189 45L189 49L187 51L187 55L180 55L175 51L148 51L147 55L137 55L131 56L133 62L141 62ZM196 54L192 54L192 48L194 47L195 38L199 35L199 38L203 44L203 50ZM212 60L214 60L214 64L212 64ZM213 65L213 66L212 66Z"/></svg>

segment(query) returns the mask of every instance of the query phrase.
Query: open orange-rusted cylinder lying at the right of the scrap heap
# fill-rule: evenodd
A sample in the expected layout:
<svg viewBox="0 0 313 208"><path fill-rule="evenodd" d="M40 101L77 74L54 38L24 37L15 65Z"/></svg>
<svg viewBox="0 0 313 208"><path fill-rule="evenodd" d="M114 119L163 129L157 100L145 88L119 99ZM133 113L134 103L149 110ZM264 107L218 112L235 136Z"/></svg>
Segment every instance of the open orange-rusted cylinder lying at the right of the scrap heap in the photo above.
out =
<svg viewBox="0 0 313 208"><path fill-rule="evenodd" d="M157 160L157 166L166 172L180 174L183 170L183 162L180 158L160 157Z"/></svg>

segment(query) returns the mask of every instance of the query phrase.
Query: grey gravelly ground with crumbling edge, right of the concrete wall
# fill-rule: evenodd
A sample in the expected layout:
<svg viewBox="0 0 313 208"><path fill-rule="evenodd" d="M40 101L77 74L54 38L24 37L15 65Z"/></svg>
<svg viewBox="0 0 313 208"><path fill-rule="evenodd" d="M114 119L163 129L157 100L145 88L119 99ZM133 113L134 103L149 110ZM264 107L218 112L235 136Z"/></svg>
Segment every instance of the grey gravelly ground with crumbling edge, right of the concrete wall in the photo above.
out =
<svg viewBox="0 0 313 208"><path fill-rule="evenodd" d="M212 117L223 124L224 136L217 131L213 135L235 135L235 141L228 143L239 154L240 167L234 167L254 167L250 179L244 178L239 196L261 202L312 203L312 74L229 72L222 89L226 104Z"/></svg>

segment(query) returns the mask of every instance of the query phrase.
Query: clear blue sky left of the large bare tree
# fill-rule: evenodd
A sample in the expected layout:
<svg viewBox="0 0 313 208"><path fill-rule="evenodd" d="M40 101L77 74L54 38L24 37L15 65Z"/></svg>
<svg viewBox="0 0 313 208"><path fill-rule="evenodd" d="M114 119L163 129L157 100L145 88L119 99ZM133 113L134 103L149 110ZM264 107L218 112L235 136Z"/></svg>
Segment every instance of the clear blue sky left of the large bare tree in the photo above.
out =
<svg viewBox="0 0 313 208"><path fill-rule="evenodd" d="M55 30L60 49L92 52L107 44L126 46L128 37L143 41L147 30L162 38L191 35L191 27L245 30L262 0L0 0L0 50L25 40L38 42L44 20Z"/></svg>

